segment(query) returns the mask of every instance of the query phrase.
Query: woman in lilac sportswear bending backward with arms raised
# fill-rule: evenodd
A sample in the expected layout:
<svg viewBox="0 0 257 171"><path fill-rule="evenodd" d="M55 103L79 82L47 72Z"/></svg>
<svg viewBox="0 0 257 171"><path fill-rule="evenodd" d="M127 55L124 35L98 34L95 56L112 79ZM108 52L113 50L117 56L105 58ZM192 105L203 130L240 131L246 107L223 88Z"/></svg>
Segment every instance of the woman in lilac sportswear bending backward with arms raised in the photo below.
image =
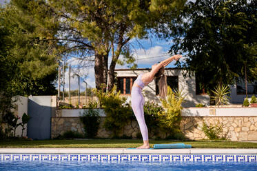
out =
<svg viewBox="0 0 257 171"><path fill-rule="evenodd" d="M164 74L164 68L167 66L171 61L181 58L180 54L176 54L172 57L169 57L169 59L165 59L164 61L161 61L160 63L156 63L152 66L152 70L150 72L147 72L145 74L140 74L137 79L134 81L134 84L132 86L132 109L136 116L136 120L138 121L139 128L141 130L141 134L143 137L143 145L138 148L150 148L149 146L149 140L148 140L148 131L147 126L145 124L145 118L144 118L144 110L143 105L145 103L145 99L142 95L142 89L147 86L150 82L154 80L154 78L159 78L158 86L159 86L159 92L160 97L165 98L167 94L167 79Z"/></svg>

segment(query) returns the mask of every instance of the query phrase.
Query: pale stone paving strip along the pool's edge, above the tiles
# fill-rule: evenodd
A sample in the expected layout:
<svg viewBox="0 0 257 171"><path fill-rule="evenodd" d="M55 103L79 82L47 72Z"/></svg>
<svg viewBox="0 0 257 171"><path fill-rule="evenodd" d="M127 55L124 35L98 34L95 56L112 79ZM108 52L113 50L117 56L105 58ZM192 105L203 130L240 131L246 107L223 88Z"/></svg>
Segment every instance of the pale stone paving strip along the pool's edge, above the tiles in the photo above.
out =
<svg viewBox="0 0 257 171"><path fill-rule="evenodd" d="M0 154L257 154L257 149L0 148Z"/></svg>

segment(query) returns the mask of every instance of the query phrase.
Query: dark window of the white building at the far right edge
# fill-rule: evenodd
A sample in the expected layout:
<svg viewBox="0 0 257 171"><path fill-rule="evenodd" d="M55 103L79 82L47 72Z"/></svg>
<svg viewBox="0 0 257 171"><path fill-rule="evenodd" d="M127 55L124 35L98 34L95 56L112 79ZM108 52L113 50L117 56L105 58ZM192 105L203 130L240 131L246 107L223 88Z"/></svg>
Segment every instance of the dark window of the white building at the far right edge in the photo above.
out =
<svg viewBox="0 0 257 171"><path fill-rule="evenodd" d="M245 81L238 81L236 83L236 94L245 94ZM257 81L247 83L247 94L257 94Z"/></svg>

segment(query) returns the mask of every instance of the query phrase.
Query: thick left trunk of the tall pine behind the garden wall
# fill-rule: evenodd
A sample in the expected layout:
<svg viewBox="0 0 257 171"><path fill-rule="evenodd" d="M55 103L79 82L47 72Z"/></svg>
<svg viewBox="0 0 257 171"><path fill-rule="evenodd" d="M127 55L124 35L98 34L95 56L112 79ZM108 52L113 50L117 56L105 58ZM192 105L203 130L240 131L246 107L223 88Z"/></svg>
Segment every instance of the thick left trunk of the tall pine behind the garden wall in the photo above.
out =
<svg viewBox="0 0 257 171"><path fill-rule="evenodd" d="M103 55L95 52L94 57L94 77L96 80L96 89L101 90L103 82Z"/></svg>

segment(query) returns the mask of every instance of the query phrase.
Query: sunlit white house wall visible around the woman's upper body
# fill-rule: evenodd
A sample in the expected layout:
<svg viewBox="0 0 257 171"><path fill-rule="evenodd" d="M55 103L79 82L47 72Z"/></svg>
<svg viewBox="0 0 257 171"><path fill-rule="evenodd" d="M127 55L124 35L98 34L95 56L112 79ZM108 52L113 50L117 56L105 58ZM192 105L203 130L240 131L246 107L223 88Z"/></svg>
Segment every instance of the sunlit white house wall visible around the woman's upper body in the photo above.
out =
<svg viewBox="0 0 257 171"><path fill-rule="evenodd" d="M117 70L117 77L137 77L141 73L150 72L150 70ZM178 76L178 89L187 94L186 102L183 104L184 108L193 107L198 103L209 105L208 95L196 95L196 81L195 77L187 74L186 77L183 76L183 70L165 70L167 76ZM143 95L145 96L145 101L159 101L158 96L156 96L156 83L152 81L145 88L143 88ZM131 100L131 97L127 98L127 102Z"/></svg>

